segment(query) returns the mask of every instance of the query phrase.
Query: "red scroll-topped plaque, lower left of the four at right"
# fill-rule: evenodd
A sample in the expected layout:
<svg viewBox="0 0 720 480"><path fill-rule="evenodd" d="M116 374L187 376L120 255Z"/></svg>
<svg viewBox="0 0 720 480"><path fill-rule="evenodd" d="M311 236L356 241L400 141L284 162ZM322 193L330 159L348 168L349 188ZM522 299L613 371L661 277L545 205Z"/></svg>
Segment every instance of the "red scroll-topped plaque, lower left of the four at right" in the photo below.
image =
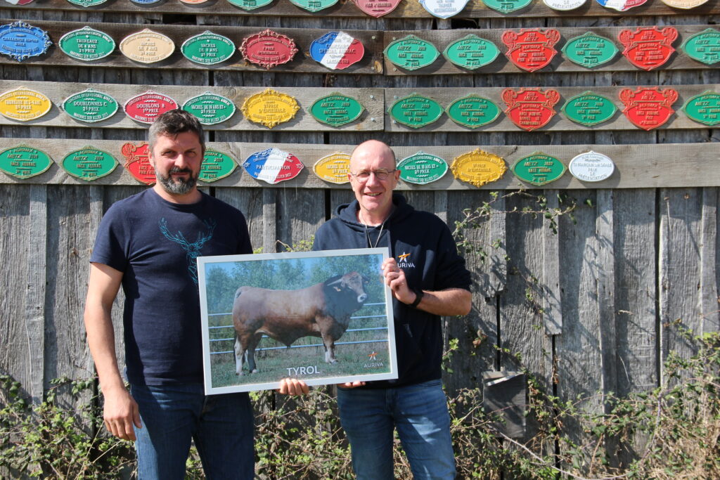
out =
<svg viewBox="0 0 720 480"><path fill-rule="evenodd" d="M505 114L523 130L536 130L544 127L554 116L554 104L560 99L555 90L540 89L503 90L503 101L508 105Z"/></svg>

